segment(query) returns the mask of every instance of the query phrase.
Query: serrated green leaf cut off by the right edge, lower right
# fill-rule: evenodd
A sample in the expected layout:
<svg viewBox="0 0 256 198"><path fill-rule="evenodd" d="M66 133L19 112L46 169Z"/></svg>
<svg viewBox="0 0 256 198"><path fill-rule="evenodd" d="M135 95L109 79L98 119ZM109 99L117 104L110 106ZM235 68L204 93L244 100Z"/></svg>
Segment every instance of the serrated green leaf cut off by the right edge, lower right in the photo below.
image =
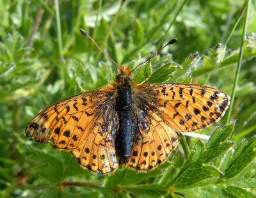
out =
<svg viewBox="0 0 256 198"><path fill-rule="evenodd" d="M236 149L230 165L225 170L223 178L230 179L243 171L246 165L250 164L256 156L256 137L242 142L239 148Z"/></svg>

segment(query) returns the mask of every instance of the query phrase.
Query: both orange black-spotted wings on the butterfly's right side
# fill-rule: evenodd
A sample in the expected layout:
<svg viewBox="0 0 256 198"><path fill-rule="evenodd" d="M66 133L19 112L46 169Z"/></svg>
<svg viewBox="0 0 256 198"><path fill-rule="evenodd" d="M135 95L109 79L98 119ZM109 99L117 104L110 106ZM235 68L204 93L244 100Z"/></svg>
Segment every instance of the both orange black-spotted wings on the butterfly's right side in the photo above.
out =
<svg viewBox="0 0 256 198"><path fill-rule="evenodd" d="M216 123L229 105L219 89L196 84L134 84L139 133L129 165L149 171L178 143L175 131L192 132Z"/></svg>

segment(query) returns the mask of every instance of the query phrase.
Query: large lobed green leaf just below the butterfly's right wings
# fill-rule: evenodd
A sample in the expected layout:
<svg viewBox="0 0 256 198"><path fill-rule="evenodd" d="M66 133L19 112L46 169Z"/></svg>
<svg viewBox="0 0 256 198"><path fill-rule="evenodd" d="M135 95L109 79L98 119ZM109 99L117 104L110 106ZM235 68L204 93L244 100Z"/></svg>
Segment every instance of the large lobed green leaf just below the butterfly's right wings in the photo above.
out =
<svg viewBox="0 0 256 198"><path fill-rule="evenodd" d="M227 142L227 139L233 130L234 123L231 123L230 125L217 128L207 144L197 141L188 160L182 165L177 176L174 179L173 177L170 178L170 182L166 182L167 179L162 180L163 184L166 187L173 185L177 189L189 188L203 179L221 176L223 174L221 171L212 165L207 165L207 163L223 154L232 146L232 143Z"/></svg>

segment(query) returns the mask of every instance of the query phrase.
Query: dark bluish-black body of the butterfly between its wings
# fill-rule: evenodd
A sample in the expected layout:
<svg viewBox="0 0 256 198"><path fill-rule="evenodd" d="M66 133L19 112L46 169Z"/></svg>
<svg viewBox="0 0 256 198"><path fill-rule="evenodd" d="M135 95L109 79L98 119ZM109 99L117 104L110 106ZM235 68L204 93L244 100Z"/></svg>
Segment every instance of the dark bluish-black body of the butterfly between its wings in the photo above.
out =
<svg viewBox="0 0 256 198"><path fill-rule="evenodd" d="M132 132L132 93L131 87L118 88L116 111L119 118L119 130L117 150L120 153L120 162L127 164L131 155L131 132Z"/></svg>

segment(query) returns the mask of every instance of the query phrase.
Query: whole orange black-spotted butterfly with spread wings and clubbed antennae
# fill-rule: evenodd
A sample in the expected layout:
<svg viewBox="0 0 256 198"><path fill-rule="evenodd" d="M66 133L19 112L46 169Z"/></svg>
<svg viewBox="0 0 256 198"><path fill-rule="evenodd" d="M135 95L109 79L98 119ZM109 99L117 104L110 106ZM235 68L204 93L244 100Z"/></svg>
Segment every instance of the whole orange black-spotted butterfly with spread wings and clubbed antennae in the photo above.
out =
<svg viewBox="0 0 256 198"><path fill-rule="evenodd" d="M82 167L93 172L111 173L119 165L148 172L177 146L177 132L210 126L228 108L229 96L219 89L198 84L137 84L129 66L119 70L113 84L42 110L28 124L26 136L70 151Z"/></svg>

